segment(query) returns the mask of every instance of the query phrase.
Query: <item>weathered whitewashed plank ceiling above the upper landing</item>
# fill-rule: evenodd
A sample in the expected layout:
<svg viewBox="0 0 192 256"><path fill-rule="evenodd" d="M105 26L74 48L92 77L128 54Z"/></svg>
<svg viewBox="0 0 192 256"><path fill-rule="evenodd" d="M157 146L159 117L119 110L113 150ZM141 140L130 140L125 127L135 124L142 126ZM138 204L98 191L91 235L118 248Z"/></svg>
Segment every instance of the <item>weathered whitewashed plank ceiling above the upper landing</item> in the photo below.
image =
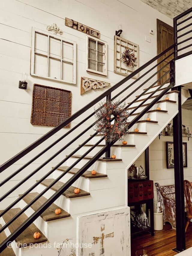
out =
<svg viewBox="0 0 192 256"><path fill-rule="evenodd" d="M192 0L141 0L170 18L192 7ZM179 2L179 3L177 3Z"/></svg>

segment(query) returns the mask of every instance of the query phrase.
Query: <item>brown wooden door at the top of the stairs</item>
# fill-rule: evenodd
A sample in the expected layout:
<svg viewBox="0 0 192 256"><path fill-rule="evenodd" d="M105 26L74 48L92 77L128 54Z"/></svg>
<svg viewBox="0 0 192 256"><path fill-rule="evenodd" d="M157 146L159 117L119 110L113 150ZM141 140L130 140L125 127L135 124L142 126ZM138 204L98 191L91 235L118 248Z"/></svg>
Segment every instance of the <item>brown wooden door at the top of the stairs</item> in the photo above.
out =
<svg viewBox="0 0 192 256"><path fill-rule="evenodd" d="M163 52L168 47L170 47L173 44L173 27L169 26L168 24L164 23L161 20L157 19L157 54ZM170 53L172 53L173 50L170 50L161 58L159 58L158 62L160 62L162 59L164 59L166 56L168 56ZM166 61L158 65L158 70L161 69L164 65L166 65L167 62L169 62L171 59L173 59L173 55L170 56ZM167 65L163 70L161 70L158 73L158 79L163 76L168 70L170 69L170 65ZM170 77L169 74L164 76L158 84L164 83L168 78Z"/></svg>

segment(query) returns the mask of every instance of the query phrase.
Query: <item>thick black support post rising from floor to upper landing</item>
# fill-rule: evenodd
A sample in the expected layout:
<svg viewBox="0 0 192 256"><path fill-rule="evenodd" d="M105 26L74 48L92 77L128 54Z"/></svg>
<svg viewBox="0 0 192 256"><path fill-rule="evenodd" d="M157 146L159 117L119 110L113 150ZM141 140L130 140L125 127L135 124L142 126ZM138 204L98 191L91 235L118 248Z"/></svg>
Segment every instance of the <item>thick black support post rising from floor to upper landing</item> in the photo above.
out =
<svg viewBox="0 0 192 256"><path fill-rule="evenodd" d="M181 86L176 88L179 113L173 118L174 173L176 202L176 249L185 250L185 208L184 208L184 175L183 175L183 141L182 141L182 101Z"/></svg>

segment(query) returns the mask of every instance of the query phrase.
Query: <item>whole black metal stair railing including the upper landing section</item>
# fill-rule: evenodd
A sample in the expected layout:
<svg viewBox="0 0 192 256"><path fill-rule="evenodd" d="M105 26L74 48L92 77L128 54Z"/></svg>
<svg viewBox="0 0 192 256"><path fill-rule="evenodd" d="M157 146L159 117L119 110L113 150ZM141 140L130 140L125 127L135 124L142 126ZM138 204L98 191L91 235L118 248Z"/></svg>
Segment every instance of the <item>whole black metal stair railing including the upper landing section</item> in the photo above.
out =
<svg viewBox="0 0 192 256"><path fill-rule="evenodd" d="M177 35L178 33L180 33L181 31L183 31L183 29L188 28L191 24L189 25L185 25L184 28L179 28L178 26L181 24L184 24L184 22L186 22L187 20L190 20L191 17L188 17L182 21L180 21L181 18L183 18L185 15L190 14L192 12L192 8L188 11L186 11L182 16L178 16L174 19L174 31L175 31L175 35ZM183 36L187 36L191 33L191 31L187 31L184 33ZM57 127L53 128L51 131L49 131L48 133L46 133L44 136L42 136L40 139L38 139L37 141L35 141L34 143L32 143L30 146L28 146L26 149L22 150L21 152L19 152L17 155L15 155L13 158L11 158L10 160L6 161L4 164L2 164L0 166L0 173L3 172L4 170L6 170L8 167L10 167L12 164L14 164L16 161L18 161L19 159L21 159L23 156L27 155L29 152L31 152L33 149L37 148L41 143L43 143L44 141L46 141L47 139L49 139L51 136L53 136L56 132L58 132L59 130L61 130L62 128L64 128L64 126L66 126L68 123L72 122L73 120L77 119L79 116L81 115L85 115L85 111L89 110L90 108L92 108L93 106L95 106L98 102L106 99L106 100L114 100L117 97L121 96L124 92L126 92L129 88L131 88L131 86L133 86L134 84L138 83L140 80L142 80L142 83L140 85L137 86L136 89L132 90L131 93L126 94L126 96L121 99L121 101L119 102L119 104L125 102L128 98L130 98L132 96L132 94L134 94L135 92L137 92L139 89L141 89L144 85L146 85L148 82L150 83L150 86L147 87L147 89L140 93L140 95L135 98L134 100L131 101L131 103L128 103L126 108L129 108L132 104L134 104L136 101L138 101L143 95L146 95L146 93L152 89L157 83L159 84L161 82L162 79L164 79L164 83L159 84L159 86L157 87L157 89L154 89L154 91L152 91L151 93L149 93L149 95L146 95L146 98L143 98L141 101L141 103L138 103L138 105L131 111L130 116L133 115L133 113L135 113L140 107L143 106L143 104L146 101L149 101L149 99L152 98L153 95L155 95L156 97L154 98L154 100L152 100L140 113L138 113L136 115L136 117L128 123L128 128L131 128L139 119L141 119L141 117L147 113L153 106L154 104L156 104L170 89L172 89L175 85L175 59L176 58L180 58L180 56L178 56L178 52L181 51L181 49L178 50L178 45L181 44L181 42L178 42L179 38L183 37L182 35L176 36L176 40L175 43L170 46L169 48L167 48L166 50L164 50L162 53L160 53L158 56L152 58L149 62L147 62L145 65L143 65L142 67L138 68L137 70L135 70L133 73L131 73L128 77L125 77L123 80L121 80L119 83L117 83L116 85L114 85L113 87L111 87L110 89L108 89L106 92L104 92L103 94L101 94L100 96L98 96L97 98L95 98L93 101L91 101L89 104L87 104L85 107L83 107L82 109L80 109L79 111L77 111L75 114L73 114L70 118L68 118L67 120L65 120L64 122L62 122L60 125L58 125ZM190 39L185 39L182 41L182 43L184 42L188 42ZM188 47L190 47L191 45L189 44ZM184 46L185 49L187 49L188 47ZM182 47L184 50L184 47ZM173 52L172 52L173 51ZM171 52L171 53L170 53ZM189 55L191 52L188 51L186 54ZM182 54L183 55L183 54ZM171 57L172 56L172 57ZM160 59L161 58L161 59ZM162 59L163 58L163 59ZM167 59L171 60L168 62ZM167 62L165 62L167 61ZM154 64L155 62L155 64ZM157 62L157 63L156 63ZM155 68L157 68L159 65L161 65L163 63L163 67L159 68L158 71L155 71L152 75L150 75L148 77L148 75L150 74L150 72L152 72ZM166 64L164 64L166 63ZM152 65L152 67L151 67ZM170 67L169 70L167 72L164 72L164 74L158 79L155 80L155 82L151 82L152 79L154 79L156 77L157 74L159 74L161 71L164 71L164 69L166 67ZM148 69L145 71L145 69ZM131 81L131 83L127 86L125 86L120 92L116 93L113 97L112 97L112 93L115 92L116 89L118 89L122 84L125 84L126 82L130 81L131 78L133 78L136 74L138 74L139 72L143 71L144 73L142 75L140 75L139 78L137 78L134 81ZM147 78L146 78L147 77ZM166 84L169 84L168 86L166 86L164 88L164 86ZM155 87L156 88L156 87ZM160 90L162 91L161 93L159 93L158 95L156 95L158 92L160 92ZM12 173L9 177L7 177L6 179L4 179L4 181L2 181L0 183L0 187L7 184L7 182L12 179L14 176L16 176L18 173L20 173L23 169L25 169L26 167L28 167L31 163L33 163L36 159L38 159L41 155L43 155L45 152L47 152L49 149L51 149L53 146L55 146L58 142L60 142L61 140L63 140L64 138L69 137L69 135L73 132L76 131L76 129L84 124L87 120L89 120L92 116L94 116L94 111L91 114L88 114L87 117L83 118L82 121L80 121L77 125L75 125L73 128L71 128L69 131L67 131L64 135L62 135L59 139L57 139L55 142L53 142L50 146L46 147L42 152L38 153L35 157L33 157L31 160L29 160L26 164L24 164L22 167L20 167L18 170L16 170L14 173ZM111 121L113 120L113 118L111 119ZM19 188L24 182L26 182L29 178L31 178L35 173L37 173L39 170L41 170L43 167L46 166L46 164L48 164L50 161L52 161L52 159L54 159L56 156L58 156L61 152L63 152L65 149L67 149L72 143L76 142L76 140L78 140L80 137L84 136L86 132L88 132L91 128L94 127L94 125L96 124L98 120L96 120L95 122L93 122L91 125L88 125L87 128L82 129L83 131L80 132L78 135L76 135L69 143L67 143L66 145L64 145L58 152L56 152L54 155L52 155L50 158L48 158L44 163L42 163L38 168L36 168L32 173L30 173L28 176L26 176L21 182L19 182L18 184L16 184L13 188L11 188L9 191L7 191L4 195L1 196L0 198L0 202L4 199L7 198L7 196L9 196L13 191L15 191L17 188ZM27 191L25 191L19 198L17 198L13 203L11 203L9 206L6 207L6 209L4 209L4 211L2 211L0 213L0 217L2 217L9 209L11 209L13 206L15 206L17 203L19 203L20 200L22 200L23 197L25 197L27 194L29 194L34 188L36 188L38 186L38 184L40 184L44 179L46 179L50 174L52 174L59 166L61 166L61 164L63 164L64 162L67 161L67 159L69 159L71 156L73 156L73 154L75 154L79 149L82 148L82 146L84 146L85 144L87 144L93 137L95 137L95 135L97 134L97 132L95 132L93 135L89 136L87 139L85 139L83 142L81 142L81 144L74 149L70 154L68 154L66 156L66 158L64 158L62 161L60 161L60 163L58 163L54 168L52 168L52 170L50 170L49 172L47 172L41 179L39 179L39 181L37 183L35 183L32 187L30 187ZM64 177L73 167L76 166L77 163L79 163L87 154L89 154L96 146L98 146L98 144L104 140L104 137L102 137L97 143L95 143L95 145L90 146L90 148L82 155L80 156L72 165L70 165L67 170L65 170L58 178L56 178L48 187L46 187L44 189L44 191L42 191L37 197L35 197L28 205L26 205L20 212L18 212L12 219L10 219L7 224L5 224L1 229L0 232L2 232L6 227L8 227L13 221L15 221L23 212L26 211L26 209L28 209L33 203L35 203L46 191L48 191L56 182L58 182L62 177ZM98 158L100 158L104 153L106 154L106 157L110 157L110 147L114 144L115 142L111 142L111 143L106 143L106 145L96 154L94 155L82 168L79 169L78 172L76 172L58 191L56 191L49 199L46 200L46 202L39 207L39 209L34 212L22 225L20 225L16 230L14 230L14 232L7 237L7 239L5 239L1 244L0 244L0 252L2 252L8 244L10 244L11 242L13 242L14 239L16 239L17 236L19 236L23 230L25 230L27 227L29 227L30 224L32 224L32 222L37 219L46 209L47 207L49 207L59 196L61 196L61 194L63 194L63 192L69 188L89 167L91 167L91 165L93 163L95 163L95 161L98 160Z"/></svg>

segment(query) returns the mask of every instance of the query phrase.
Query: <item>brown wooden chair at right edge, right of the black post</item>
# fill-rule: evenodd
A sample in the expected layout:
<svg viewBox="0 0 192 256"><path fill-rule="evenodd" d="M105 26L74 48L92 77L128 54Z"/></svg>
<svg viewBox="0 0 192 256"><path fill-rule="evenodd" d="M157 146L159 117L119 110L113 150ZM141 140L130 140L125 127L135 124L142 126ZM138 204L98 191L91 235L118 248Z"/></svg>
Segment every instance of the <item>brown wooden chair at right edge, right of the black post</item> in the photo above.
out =
<svg viewBox="0 0 192 256"><path fill-rule="evenodd" d="M187 223L185 226L185 232L189 226L190 219L192 219L192 185L188 180L184 180L184 193L186 199L186 209L187 209Z"/></svg>

